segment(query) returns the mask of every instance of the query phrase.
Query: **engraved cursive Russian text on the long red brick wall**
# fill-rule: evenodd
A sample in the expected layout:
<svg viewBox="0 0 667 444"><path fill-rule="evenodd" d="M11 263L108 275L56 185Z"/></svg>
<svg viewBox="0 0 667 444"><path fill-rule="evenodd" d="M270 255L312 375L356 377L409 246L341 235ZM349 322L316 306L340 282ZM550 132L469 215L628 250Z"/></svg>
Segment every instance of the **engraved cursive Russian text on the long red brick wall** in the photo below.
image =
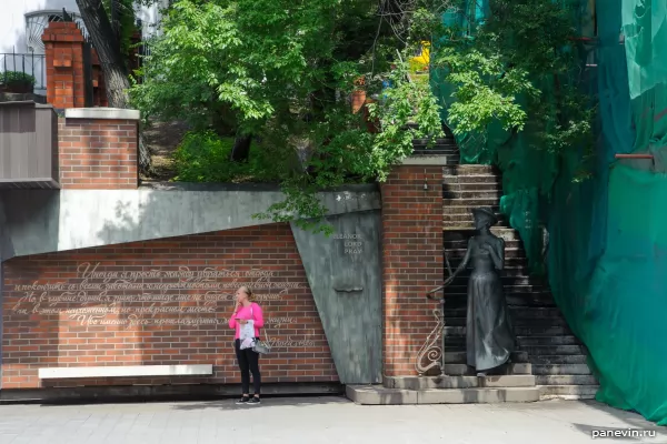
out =
<svg viewBox="0 0 667 444"><path fill-rule="evenodd" d="M80 327L226 325L239 286L253 289L265 309L263 334L276 349L312 346L308 335L281 334L299 329L299 320L282 316L272 301L281 301L290 290L305 289L302 282L279 279L269 270L206 268L190 270L100 271L99 263L77 266L74 279L17 284L20 293L11 307L14 315L67 316Z"/></svg>

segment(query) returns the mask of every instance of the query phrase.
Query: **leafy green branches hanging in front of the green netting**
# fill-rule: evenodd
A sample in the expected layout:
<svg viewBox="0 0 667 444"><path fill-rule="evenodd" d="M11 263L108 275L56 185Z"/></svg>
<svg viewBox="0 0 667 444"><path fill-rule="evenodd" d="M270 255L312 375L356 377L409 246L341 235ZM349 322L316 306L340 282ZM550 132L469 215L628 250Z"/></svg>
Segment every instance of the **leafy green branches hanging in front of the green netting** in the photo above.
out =
<svg viewBox="0 0 667 444"><path fill-rule="evenodd" d="M467 1L458 2L465 11ZM474 34L442 28L432 63L456 87L449 108L455 133L487 132L492 123L536 133L534 149L593 150L595 107L581 90L577 42L579 1L491 0ZM475 19L464 12L465 21Z"/></svg>

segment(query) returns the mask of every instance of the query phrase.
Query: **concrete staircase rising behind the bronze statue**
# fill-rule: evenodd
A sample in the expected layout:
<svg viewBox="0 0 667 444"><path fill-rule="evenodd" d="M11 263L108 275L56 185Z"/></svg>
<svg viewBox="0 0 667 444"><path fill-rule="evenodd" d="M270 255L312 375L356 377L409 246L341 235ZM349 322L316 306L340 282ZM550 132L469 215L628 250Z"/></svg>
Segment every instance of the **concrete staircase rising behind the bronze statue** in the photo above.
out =
<svg viewBox="0 0 667 444"><path fill-rule="evenodd" d="M445 250L452 270L474 234L470 209L490 206L499 212L501 184L498 171L487 165L448 165L442 176ZM506 241L505 295L510 309L518 350L515 363L530 364L541 398L591 398L598 384L586 364L586 350L569 330L548 284L528 273L519 234L500 215L492 230ZM457 278L446 292L445 334L449 365L465 363L467 284L471 270Z"/></svg>

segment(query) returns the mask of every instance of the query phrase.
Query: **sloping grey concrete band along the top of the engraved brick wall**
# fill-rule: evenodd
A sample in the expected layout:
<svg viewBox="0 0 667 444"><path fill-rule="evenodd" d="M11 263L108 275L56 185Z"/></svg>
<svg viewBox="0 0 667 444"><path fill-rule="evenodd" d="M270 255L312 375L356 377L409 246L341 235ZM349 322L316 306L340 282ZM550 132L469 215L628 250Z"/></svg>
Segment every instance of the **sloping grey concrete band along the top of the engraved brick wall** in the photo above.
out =
<svg viewBox="0 0 667 444"><path fill-rule="evenodd" d="M0 208L7 220L0 224L0 259L270 223L252 214L282 199L273 185L2 191ZM375 185L348 186L321 199L330 214L380 208Z"/></svg>

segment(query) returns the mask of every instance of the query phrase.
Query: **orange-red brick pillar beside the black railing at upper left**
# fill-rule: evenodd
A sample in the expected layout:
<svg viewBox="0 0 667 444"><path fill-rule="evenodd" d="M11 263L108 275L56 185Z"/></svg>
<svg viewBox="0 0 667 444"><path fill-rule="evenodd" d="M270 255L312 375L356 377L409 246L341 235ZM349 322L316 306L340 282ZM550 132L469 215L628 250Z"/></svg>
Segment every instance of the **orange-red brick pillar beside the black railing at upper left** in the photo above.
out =
<svg viewBox="0 0 667 444"><path fill-rule="evenodd" d="M73 22L52 21L41 39L47 56L47 101L59 109L84 107L81 30Z"/></svg>

